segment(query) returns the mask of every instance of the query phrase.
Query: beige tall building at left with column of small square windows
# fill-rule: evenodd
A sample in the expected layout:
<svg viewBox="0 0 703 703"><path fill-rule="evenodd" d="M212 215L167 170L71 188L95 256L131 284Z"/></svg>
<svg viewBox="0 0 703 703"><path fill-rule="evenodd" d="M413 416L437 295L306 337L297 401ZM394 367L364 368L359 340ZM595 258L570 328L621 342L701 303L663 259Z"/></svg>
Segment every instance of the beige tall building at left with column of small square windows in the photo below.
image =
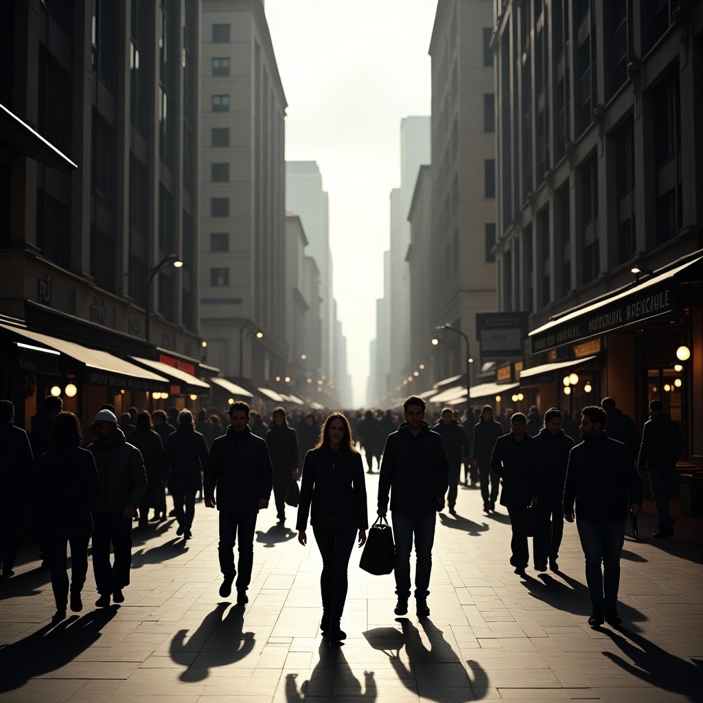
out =
<svg viewBox="0 0 703 703"><path fill-rule="evenodd" d="M201 330L210 363L265 384L288 344L286 101L262 0L203 0L201 58Z"/></svg>

